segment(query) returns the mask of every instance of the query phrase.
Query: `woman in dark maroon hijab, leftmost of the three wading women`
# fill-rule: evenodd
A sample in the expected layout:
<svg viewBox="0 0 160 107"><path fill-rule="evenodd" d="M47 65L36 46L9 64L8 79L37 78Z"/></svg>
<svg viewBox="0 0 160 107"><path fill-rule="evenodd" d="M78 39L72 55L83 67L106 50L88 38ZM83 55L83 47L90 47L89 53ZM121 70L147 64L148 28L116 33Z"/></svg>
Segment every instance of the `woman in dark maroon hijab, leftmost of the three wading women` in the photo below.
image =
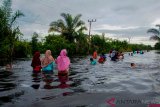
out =
<svg viewBox="0 0 160 107"><path fill-rule="evenodd" d="M40 52L35 52L31 66L33 67L33 72L40 72L41 71L41 61L40 61Z"/></svg>

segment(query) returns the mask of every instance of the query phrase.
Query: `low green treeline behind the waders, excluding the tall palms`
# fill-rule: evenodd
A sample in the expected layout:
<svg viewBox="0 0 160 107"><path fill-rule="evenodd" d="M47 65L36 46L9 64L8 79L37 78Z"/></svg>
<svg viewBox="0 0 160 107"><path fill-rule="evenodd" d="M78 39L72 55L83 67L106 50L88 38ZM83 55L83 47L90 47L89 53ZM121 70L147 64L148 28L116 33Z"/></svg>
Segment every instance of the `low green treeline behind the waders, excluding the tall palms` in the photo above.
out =
<svg viewBox="0 0 160 107"><path fill-rule="evenodd" d="M88 35L80 34L79 39L69 42L63 35L54 34L39 40L39 35L34 33L30 42L17 41L14 55L15 57L27 57L27 55L33 55L35 51L45 53L50 49L52 55L56 57L64 48L68 50L69 56L88 55L92 54L94 50L97 50L98 53L108 53L112 49L121 52L153 49L150 45L129 44L127 41L105 38L102 35L92 35L89 39Z"/></svg>

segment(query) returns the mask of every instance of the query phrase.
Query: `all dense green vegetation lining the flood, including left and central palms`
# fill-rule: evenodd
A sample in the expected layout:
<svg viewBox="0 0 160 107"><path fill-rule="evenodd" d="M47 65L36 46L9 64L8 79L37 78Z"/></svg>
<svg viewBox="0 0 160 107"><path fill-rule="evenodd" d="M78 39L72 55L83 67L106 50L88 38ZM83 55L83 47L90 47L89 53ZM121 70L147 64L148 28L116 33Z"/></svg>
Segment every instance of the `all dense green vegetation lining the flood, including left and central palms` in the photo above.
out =
<svg viewBox="0 0 160 107"><path fill-rule="evenodd" d="M151 46L129 44L127 41L105 38L104 35L91 35L90 38L84 33L86 26L80 19L81 15L73 17L68 13L62 13L62 19L51 22L50 34L45 36L43 41L39 39L36 32L33 33L31 41L20 40L19 37L22 36L22 33L15 22L24 15L19 10L14 13L11 9L11 3L11 0L4 0L0 7L0 65L12 62L13 58L27 57L33 55L35 51L44 53L48 49L52 51L54 57L63 48L68 50L70 56L88 55L94 50L97 50L98 53L107 53L111 49L118 51L152 49ZM60 34L55 35L54 32ZM157 43L155 47L160 49L160 43Z"/></svg>

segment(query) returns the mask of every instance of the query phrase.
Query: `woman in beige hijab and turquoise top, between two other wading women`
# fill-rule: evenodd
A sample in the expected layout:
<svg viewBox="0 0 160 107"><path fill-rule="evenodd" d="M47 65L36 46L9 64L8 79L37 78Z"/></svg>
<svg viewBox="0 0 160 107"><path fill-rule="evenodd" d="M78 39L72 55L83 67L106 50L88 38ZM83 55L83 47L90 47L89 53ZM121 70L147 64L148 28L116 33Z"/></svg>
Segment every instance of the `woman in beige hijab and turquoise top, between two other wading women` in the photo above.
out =
<svg viewBox="0 0 160 107"><path fill-rule="evenodd" d="M53 72L53 62L54 62L54 58L51 55L51 51L47 50L45 52L45 57L41 61L42 71Z"/></svg>

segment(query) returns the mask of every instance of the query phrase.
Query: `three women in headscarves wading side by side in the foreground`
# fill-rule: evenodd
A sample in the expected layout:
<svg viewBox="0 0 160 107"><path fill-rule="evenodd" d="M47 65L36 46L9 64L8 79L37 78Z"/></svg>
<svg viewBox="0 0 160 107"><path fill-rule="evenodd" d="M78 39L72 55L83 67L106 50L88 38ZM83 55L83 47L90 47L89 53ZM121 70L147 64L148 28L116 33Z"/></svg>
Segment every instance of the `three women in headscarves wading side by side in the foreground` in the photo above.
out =
<svg viewBox="0 0 160 107"><path fill-rule="evenodd" d="M37 51L33 56L31 66L33 67L33 73L40 73L42 71L43 74L53 74L54 68L56 67L58 77L63 79L64 76L68 76L70 59L67 56L66 49L61 50L57 59L53 58L51 50L47 50L43 58L40 58L40 52ZM65 81L62 81L62 84L64 84L64 82Z"/></svg>

